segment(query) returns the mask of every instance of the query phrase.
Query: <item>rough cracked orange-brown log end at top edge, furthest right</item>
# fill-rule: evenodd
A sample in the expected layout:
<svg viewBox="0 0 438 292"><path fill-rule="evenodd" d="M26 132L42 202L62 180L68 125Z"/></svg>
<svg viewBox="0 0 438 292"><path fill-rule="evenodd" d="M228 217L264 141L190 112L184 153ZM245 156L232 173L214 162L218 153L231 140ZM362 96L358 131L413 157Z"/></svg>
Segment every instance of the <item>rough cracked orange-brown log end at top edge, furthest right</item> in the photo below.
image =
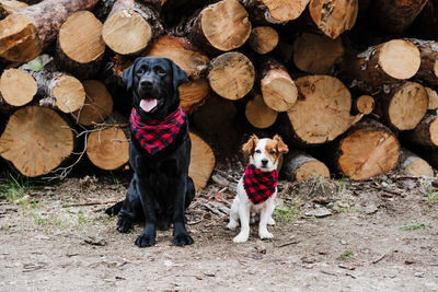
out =
<svg viewBox="0 0 438 292"><path fill-rule="evenodd" d="M311 0L309 3L314 24L333 39L353 28L358 10L358 0Z"/></svg>

